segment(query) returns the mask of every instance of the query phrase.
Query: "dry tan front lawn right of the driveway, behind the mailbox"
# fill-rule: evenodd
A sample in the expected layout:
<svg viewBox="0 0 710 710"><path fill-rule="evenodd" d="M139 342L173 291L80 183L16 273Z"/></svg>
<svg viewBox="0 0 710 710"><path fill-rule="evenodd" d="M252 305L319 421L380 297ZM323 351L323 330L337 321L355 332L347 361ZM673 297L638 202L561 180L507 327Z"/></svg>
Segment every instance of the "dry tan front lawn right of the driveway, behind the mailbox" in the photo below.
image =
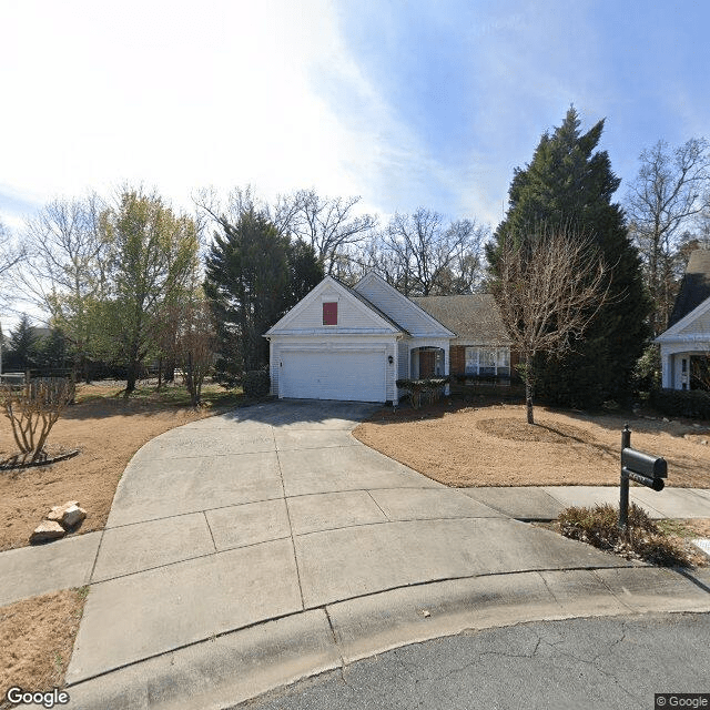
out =
<svg viewBox="0 0 710 710"><path fill-rule="evenodd" d="M455 403L382 410L354 436L448 486L617 486L625 423L631 445L668 460L668 486L710 488L708 427L536 407ZM687 436L689 435L689 436Z"/></svg>

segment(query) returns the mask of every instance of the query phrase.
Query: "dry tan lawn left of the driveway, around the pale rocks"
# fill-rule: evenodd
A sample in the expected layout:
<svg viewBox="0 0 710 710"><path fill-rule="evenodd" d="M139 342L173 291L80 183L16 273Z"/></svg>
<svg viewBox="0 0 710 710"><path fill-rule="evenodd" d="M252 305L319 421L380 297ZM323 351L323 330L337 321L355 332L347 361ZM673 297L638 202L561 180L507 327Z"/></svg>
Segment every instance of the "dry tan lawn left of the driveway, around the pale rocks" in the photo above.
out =
<svg viewBox="0 0 710 710"><path fill-rule="evenodd" d="M106 396L106 387L91 385L80 386L78 398L49 438L52 450L78 448L78 456L0 473L0 550L28 545L50 508L68 500L78 500L87 510L87 519L73 535L103 529L115 487L133 454L159 434L211 414ZM2 417L0 459L13 450L10 426Z"/></svg>

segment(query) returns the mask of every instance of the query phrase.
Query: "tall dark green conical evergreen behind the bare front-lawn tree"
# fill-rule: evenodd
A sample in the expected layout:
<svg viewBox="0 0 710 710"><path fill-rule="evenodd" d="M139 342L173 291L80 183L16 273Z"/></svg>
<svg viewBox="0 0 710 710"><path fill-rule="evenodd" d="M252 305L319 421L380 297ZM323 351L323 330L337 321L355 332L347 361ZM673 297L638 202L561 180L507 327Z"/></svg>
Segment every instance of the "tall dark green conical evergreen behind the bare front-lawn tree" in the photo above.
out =
<svg viewBox="0 0 710 710"><path fill-rule="evenodd" d="M623 400L631 372L648 337L649 303L643 292L638 253L623 212L611 202L620 180L606 151L595 152L604 120L587 133L570 108L554 133L545 133L525 169L516 169L509 207L487 246L491 276L505 237L529 239L536 226L571 225L589 236L610 274L608 300L564 358L539 363L538 394L556 404L597 406Z"/></svg>

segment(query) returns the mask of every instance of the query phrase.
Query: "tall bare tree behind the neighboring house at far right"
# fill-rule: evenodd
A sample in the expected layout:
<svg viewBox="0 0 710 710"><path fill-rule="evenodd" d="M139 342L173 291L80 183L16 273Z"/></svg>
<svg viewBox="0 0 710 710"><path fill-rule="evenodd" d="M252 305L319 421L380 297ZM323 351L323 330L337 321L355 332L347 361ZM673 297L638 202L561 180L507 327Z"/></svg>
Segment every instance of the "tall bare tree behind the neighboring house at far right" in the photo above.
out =
<svg viewBox="0 0 710 710"><path fill-rule="evenodd" d="M657 335L668 327L681 233L710 205L710 153L704 139L690 139L674 150L659 141L641 153L640 161L627 213L656 306L651 326Z"/></svg>

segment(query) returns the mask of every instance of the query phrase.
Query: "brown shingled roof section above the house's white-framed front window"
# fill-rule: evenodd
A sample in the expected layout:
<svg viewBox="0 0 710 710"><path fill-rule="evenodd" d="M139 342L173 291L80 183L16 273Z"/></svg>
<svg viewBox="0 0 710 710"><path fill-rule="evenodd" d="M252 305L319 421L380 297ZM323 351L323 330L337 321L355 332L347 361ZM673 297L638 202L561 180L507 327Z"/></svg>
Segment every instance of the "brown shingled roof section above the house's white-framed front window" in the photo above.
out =
<svg viewBox="0 0 710 710"><path fill-rule="evenodd" d="M460 341L509 343L500 312L489 293L464 296L418 296L412 301L453 331Z"/></svg>

